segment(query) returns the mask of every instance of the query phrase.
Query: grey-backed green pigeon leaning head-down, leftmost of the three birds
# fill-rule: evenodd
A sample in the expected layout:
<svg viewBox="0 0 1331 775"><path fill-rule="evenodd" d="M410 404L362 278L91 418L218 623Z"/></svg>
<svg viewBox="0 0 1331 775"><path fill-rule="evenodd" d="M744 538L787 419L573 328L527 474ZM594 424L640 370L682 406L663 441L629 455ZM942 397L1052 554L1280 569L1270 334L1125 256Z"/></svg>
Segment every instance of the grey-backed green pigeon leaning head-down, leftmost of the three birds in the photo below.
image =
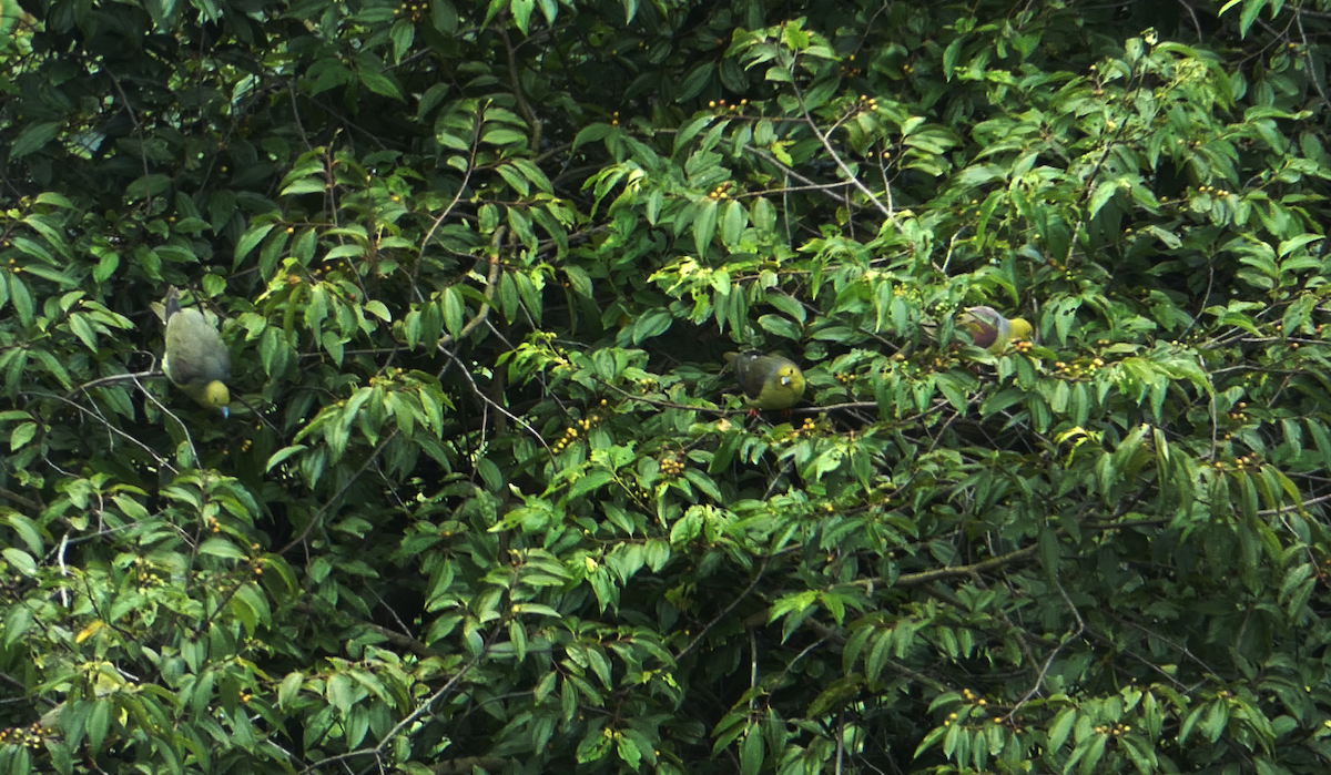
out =
<svg viewBox="0 0 1331 775"><path fill-rule="evenodd" d="M162 372L172 385L205 409L220 409L230 415L232 395L225 381L232 377L232 354L222 337L197 309L180 308L180 292L166 292L166 356Z"/></svg>

